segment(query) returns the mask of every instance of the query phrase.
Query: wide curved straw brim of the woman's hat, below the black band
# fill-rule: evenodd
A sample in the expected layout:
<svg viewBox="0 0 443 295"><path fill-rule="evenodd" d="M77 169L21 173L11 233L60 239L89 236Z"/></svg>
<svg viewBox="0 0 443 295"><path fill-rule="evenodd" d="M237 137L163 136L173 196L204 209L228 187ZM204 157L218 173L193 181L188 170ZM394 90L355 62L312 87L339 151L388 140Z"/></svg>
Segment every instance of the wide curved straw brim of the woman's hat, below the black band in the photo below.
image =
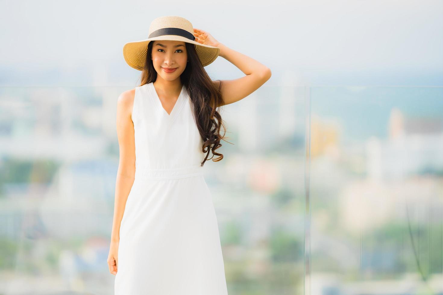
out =
<svg viewBox="0 0 443 295"><path fill-rule="evenodd" d="M148 50L148 43L154 40L183 41L194 44L195 51L197 52L202 66L209 65L210 63L215 61L215 59L218 57L218 54L220 54L220 48L218 47L200 44L198 42L178 35L163 35L124 44L123 57L126 63L134 69L138 69L139 71L143 70L146 53Z"/></svg>

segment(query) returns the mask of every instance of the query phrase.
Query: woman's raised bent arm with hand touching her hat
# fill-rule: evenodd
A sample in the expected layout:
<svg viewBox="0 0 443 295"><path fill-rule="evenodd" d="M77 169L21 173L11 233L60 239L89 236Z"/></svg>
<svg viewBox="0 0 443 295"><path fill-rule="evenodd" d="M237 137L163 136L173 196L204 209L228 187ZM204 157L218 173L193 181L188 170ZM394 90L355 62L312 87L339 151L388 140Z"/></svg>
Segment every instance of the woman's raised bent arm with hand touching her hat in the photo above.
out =
<svg viewBox="0 0 443 295"><path fill-rule="evenodd" d="M194 28L194 36L196 37L195 41L199 43L220 48L219 56L231 62L246 75L235 80L222 81L221 95L223 96L224 105L242 100L260 88L271 77L271 69L267 66L252 57L221 44L209 33ZM213 82L218 88L220 81Z"/></svg>

